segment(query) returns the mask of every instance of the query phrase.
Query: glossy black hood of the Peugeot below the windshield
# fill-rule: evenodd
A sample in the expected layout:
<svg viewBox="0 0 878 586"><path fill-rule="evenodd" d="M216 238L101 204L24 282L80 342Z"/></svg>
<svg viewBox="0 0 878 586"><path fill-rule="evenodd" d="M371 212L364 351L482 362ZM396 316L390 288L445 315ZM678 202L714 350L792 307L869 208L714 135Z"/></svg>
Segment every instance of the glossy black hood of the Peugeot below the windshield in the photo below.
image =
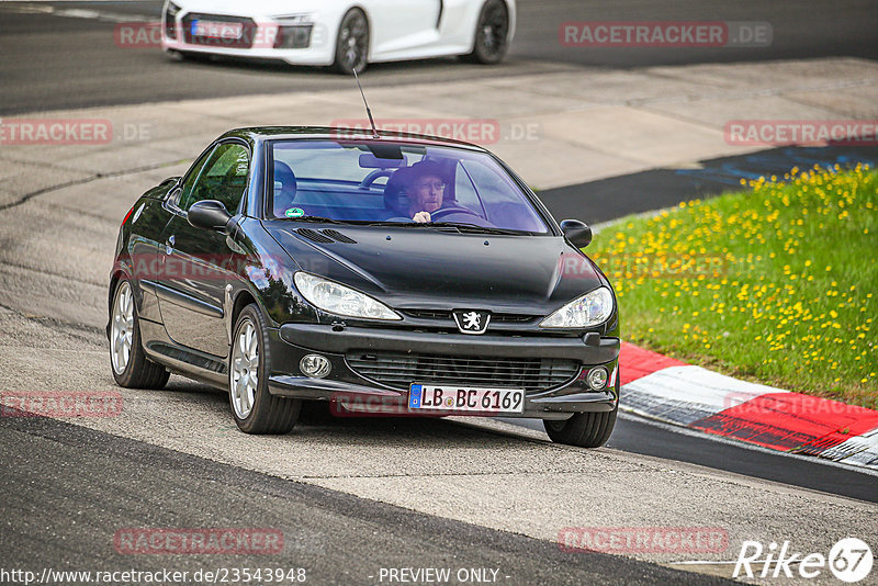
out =
<svg viewBox="0 0 878 586"><path fill-rule="evenodd" d="M317 243L289 222L267 228L302 270L396 308L547 315L604 282L592 261L562 237L305 226L354 240Z"/></svg>

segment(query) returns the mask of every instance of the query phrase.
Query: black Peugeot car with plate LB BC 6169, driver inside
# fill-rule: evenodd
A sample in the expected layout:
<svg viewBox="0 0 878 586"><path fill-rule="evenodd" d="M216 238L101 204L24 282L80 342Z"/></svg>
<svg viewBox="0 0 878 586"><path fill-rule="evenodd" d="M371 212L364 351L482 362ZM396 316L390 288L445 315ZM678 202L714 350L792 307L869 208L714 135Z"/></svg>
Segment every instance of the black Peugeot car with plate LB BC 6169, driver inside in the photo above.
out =
<svg viewBox="0 0 878 586"><path fill-rule="evenodd" d="M113 376L229 392L248 433L303 401L336 414L543 419L604 444L619 317L577 221L485 149L407 134L256 127L147 191L110 279Z"/></svg>

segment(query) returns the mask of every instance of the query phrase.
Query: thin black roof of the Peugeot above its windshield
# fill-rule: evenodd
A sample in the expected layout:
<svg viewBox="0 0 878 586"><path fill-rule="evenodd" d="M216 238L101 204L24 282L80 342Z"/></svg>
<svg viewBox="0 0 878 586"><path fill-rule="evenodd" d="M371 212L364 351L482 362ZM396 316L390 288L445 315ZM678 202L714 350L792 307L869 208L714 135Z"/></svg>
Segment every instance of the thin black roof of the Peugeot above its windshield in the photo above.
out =
<svg viewBox="0 0 878 586"><path fill-rule="evenodd" d="M410 143L431 146L447 146L454 148L465 148L487 153L479 145L455 140L453 138L442 138L424 134L401 133L394 131L379 129L378 136L365 128L345 128L335 126L248 126L228 131L222 138L240 137L254 143L262 140L296 140L296 139L319 139L328 140L352 139L358 142L374 143Z"/></svg>

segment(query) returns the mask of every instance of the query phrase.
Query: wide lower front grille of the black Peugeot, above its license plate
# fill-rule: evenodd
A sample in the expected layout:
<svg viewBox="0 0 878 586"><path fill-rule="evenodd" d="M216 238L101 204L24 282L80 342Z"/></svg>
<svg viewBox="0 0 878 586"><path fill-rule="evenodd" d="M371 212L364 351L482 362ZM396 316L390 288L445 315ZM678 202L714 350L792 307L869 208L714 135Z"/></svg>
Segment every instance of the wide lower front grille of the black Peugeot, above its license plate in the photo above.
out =
<svg viewBox="0 0 878 586"><path fill-rule="evenodd" d="M461 358L351 351L348 365L359 375L401 391L412 383L548 391L573 380L575 360L555 358Z"/></svg>

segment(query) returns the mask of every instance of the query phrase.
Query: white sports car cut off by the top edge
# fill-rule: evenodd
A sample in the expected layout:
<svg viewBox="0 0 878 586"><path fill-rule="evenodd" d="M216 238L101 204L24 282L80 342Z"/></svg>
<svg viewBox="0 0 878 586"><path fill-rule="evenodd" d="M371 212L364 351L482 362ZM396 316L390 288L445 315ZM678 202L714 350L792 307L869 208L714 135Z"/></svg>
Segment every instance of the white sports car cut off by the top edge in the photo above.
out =
<svg viewBox="0 0 878 586"><path fill-rule="evenodd" d="M161 46L331 65L469 56L496 64L515 32L515 0L167 0Z"/></svg>

